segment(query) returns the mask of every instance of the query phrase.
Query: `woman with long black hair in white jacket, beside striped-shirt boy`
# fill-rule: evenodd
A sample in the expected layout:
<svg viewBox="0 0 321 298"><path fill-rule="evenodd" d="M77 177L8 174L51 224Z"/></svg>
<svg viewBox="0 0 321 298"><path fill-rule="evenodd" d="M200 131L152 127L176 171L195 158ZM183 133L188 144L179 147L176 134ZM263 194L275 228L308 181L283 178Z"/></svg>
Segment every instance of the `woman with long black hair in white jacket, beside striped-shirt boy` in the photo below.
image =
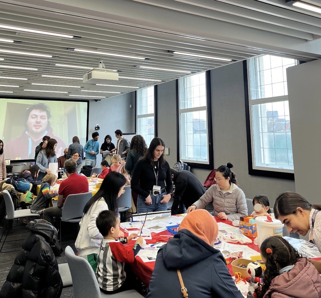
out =
<svg viewBox="0 0 321 298"><path fill-rule="evenodd" d="M103 210L118 210L118 198L125 190L126 179L118 172L109 173L103 180L100 189L88 201L83 209L82 220L79 223L75 247L80 257L85 258L96 272L97 254L103 236L96 226L96 218Z"/></svg>

